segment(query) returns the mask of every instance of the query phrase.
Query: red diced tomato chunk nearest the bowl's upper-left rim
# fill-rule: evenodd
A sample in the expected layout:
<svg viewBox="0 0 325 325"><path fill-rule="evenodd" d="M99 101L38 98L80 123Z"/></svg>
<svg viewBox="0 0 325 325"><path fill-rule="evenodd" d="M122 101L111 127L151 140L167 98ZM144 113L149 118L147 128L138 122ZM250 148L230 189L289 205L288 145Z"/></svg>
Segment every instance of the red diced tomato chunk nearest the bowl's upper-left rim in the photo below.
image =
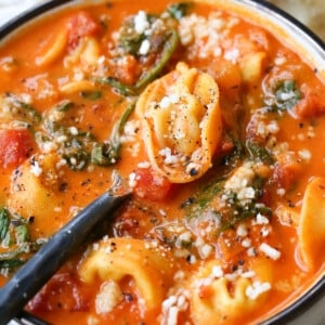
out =
<svg viewBox="0 0 325 325"><path fill-rule="evenodd" d="M67 27L69 50L74 50L78 46L80 38L96 35L101 29L100 24L86 11L80 11L72 16Z"/></svg>

